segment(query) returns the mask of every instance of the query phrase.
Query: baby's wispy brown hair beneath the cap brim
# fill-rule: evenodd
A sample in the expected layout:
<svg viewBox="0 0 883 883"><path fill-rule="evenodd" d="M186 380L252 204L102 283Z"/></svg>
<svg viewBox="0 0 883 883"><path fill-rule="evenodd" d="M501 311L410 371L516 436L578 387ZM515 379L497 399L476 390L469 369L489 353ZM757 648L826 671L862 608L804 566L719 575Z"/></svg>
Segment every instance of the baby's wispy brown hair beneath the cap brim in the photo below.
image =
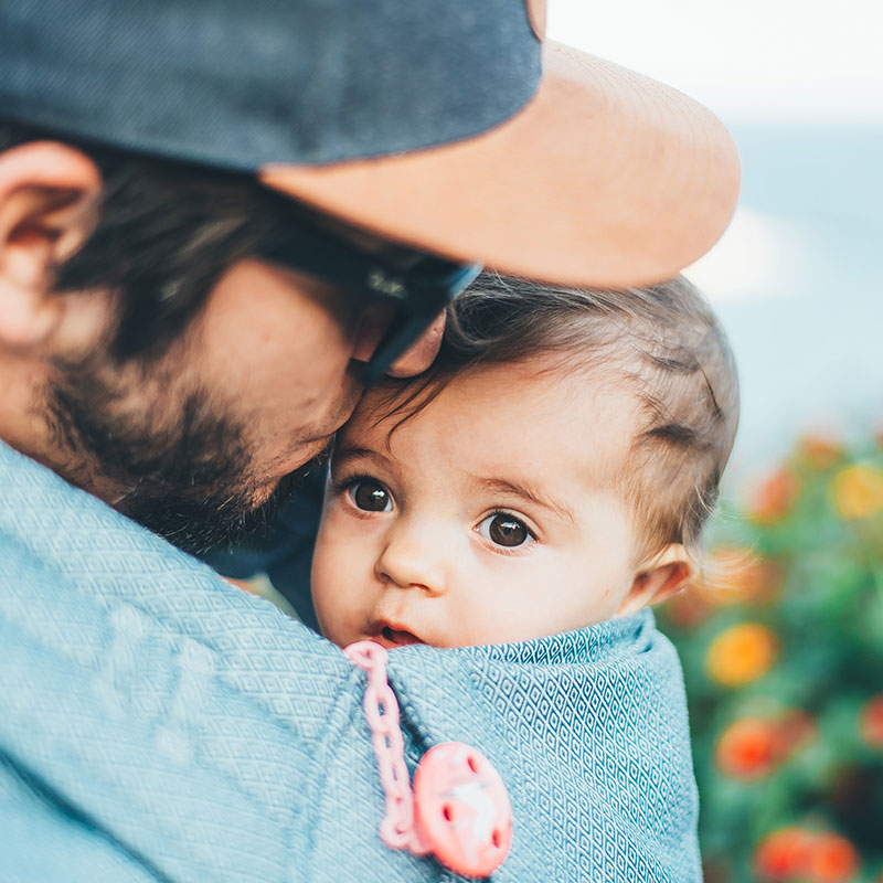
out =
<svg viewBox="0 0 883 883"><path fill-rule="evenodd" d="M738 423L733 353L702 295L682 277L607 290L483 273L449 308L435 364L390 404L407 419L462 371L535 357L635 392L638 425L614 481L643 529L639 557L695 550Z"/></svg>

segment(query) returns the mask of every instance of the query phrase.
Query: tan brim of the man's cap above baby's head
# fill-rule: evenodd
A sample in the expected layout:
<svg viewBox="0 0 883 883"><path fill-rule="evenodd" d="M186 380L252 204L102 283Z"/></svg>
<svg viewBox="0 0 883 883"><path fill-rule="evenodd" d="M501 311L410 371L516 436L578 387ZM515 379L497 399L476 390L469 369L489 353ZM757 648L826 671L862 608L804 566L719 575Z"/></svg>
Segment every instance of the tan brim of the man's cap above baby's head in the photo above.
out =
<svg viewBox="0 0 883 883"><path fill-rule="evenodd" d="M571 285L674 276L724 232L738 158L681 93L546 42L535 96L474 138L260 180L345 221L504 273Z"/></svg>

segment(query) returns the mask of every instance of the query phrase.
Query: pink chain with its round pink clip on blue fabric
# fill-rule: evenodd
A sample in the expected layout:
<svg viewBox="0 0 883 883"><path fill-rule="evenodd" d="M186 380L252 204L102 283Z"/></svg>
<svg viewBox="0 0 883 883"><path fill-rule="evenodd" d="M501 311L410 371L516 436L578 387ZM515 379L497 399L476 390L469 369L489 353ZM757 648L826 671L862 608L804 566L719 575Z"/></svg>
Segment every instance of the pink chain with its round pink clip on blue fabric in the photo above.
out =
<svg viewBox="0 0 883 883"><path fill-rule="evenodd" d="M386 796L381 840L415 855L432 852L458 874L488 876L512 842L512 806L499 773L476 748L446 742L424 755L412 794L398 702L386 680L386 649L357 641L343 652L368 672L365 717Z"/></svg>

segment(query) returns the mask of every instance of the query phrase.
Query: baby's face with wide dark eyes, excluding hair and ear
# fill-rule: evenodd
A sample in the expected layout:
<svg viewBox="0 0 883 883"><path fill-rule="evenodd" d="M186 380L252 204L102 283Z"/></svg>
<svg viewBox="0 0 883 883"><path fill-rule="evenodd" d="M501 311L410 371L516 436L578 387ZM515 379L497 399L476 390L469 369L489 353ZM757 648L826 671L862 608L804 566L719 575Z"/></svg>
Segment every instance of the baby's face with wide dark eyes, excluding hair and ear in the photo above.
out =
<svg viewBox="0 0 883 883"><path fill-rule="evenodd" d="M472 371L392 435L369 393L340 430L312 564L340 646L523 640L608 619L637 538L613 487L626 391L539 363Z"/></svg>

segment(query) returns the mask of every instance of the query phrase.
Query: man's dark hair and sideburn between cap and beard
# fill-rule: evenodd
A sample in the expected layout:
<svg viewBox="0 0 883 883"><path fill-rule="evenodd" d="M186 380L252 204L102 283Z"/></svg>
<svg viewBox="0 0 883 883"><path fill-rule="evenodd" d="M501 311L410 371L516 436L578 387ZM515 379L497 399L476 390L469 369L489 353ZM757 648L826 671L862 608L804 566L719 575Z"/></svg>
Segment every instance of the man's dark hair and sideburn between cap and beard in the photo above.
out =
<svg viewBox="0 0 883 883"><path fill-rule="evenodd" d="M56 268L58 295L105 289L116 297L110 353L118 361L160 353L236 260L280 245L307 211L227 173L58 137L0 119L0 151L62 140L98 167L97 223L83 247Z"/></svg>

